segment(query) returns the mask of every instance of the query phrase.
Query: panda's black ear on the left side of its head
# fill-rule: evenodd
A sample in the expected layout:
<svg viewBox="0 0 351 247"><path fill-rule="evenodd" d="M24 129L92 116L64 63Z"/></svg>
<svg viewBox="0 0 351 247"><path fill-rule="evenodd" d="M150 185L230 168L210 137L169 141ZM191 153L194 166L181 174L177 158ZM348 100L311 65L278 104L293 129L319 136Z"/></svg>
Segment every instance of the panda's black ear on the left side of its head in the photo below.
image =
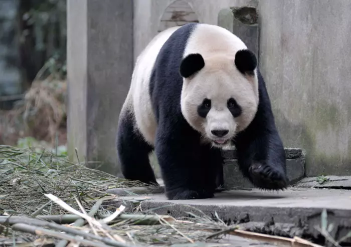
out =
<svg viewBox="0 0 351 247"><path fill-rule="evenodd" d="M189 76L193 75L194 73L198 72L205 66L204 58L199 53L193 53L187 55L181 63L179 68L180 74L188 78Z"/></svg>

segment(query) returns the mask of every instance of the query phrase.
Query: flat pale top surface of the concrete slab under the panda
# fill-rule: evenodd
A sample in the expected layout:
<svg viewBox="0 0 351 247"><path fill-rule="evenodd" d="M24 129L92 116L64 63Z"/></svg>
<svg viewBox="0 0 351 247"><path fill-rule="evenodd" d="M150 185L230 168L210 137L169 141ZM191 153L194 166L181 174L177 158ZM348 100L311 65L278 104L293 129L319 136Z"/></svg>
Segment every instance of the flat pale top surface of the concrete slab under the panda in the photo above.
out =
<svg viewBox="0 0 351 247"><path fill-rule="evenodd" d="M153 202L192 205L334 208L351 210L351 190L342 189L290 188L278 192L263 191L260 189L230 190L216 193L213 198L193 200L167 200L163 193L149 194L148 197Z"/></svg>

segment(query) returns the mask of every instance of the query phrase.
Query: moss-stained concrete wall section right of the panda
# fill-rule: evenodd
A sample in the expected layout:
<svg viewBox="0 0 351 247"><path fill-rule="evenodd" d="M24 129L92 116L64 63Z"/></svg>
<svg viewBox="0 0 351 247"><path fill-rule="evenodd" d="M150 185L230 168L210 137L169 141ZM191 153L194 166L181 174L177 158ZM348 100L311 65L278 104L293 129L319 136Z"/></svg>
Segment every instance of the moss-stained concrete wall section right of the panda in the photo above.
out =
<svg viewBox="0 0 351 247"><path fill-rule="evenodd" d="M306 175L351 175L351 1L261 0L260 66Z"/></svg>

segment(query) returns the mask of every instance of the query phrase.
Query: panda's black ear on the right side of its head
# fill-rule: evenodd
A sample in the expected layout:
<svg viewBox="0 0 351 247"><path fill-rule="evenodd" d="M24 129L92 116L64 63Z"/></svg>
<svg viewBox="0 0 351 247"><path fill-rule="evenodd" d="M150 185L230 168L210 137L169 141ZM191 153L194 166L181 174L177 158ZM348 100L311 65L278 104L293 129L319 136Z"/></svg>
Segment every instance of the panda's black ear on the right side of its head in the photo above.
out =
<svg viewBox="0 0 351 247"><path fill-rule="evenodd" d="M235 65L240 72L252 75L257 66L257 58L251 50L241 49L235 54Z"/></svg>

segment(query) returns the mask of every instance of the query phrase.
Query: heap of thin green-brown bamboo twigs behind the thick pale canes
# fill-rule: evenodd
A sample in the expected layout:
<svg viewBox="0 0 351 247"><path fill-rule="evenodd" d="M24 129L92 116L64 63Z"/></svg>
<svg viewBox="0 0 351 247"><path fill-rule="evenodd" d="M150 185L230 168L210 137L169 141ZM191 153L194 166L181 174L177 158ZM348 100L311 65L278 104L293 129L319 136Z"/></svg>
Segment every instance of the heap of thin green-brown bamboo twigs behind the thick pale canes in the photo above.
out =
<svg viewBox="0 0 351 247"><path fill-rule="evenodd" d="M0 209L7 213L31 215L50 201L44 193L53 193L75 207L74 196L79 196L83 206L90 209L96 199L108 195L104 192L107 188L138 185L72 163L45 149L33 149L0 145ZM41 213L64 212L54 203L49 203Z"/></svg>

